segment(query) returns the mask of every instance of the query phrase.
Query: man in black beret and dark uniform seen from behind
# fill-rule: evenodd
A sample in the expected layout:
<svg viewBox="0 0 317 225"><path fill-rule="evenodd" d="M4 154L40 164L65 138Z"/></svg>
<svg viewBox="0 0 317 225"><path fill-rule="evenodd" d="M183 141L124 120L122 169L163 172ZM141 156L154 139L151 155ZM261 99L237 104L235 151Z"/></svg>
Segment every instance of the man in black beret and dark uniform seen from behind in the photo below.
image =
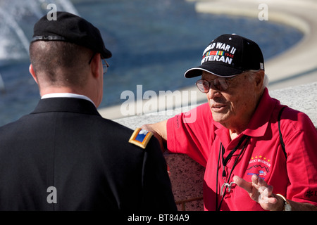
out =
<svg viewBox="0 0 317 225"><path fill-rule="evenodd" d="M35 24L30 73L42 99L0 127L0 210L176 210L158 141L97 111L110 57L77 15Z"/></svg>

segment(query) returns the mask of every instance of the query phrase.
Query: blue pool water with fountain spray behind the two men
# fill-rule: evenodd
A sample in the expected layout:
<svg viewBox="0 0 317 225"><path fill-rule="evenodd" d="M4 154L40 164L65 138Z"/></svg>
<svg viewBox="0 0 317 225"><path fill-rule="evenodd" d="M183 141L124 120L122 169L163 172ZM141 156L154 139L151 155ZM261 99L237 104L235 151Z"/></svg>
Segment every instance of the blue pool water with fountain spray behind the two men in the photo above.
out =
<svg viewBox="0 0 317 225"><path fill-rule="evenodd" d="M120 94L180 89L194 84L184 72L199 65L209 42L224 33L256 41L265 60L285 51L302 33L258 18L210 15L194 11L185 0L0 0L0 125L32 112L39 91L28 72L28 43L34 23L49 10L46 4L89 20L101 31L113 58L104 82L100 107L123 103ZM27 41L26 41L27 40Z"/></svg>

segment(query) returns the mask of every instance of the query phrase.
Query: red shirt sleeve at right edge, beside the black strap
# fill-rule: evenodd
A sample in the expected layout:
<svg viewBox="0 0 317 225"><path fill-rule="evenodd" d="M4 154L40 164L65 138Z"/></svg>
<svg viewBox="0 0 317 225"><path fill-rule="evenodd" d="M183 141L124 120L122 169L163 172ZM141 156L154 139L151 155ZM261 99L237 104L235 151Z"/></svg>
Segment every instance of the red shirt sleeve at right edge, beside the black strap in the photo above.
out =
<svg viewBox="0 0 317 225"><path fill-rule="evenodd" d="M286 198L317 205L317 131L309 117L297 112L282 129L290 184Z"/></svg>

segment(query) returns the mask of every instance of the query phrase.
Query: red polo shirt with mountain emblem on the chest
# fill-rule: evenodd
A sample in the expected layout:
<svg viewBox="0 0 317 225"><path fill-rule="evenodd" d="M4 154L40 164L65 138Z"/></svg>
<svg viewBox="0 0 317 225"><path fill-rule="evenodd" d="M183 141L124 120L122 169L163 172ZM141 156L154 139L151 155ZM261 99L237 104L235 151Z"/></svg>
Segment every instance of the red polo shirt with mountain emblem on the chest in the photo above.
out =
<svg viewBox="0 0 317 225"><path fill-rule="evenodd" d="M235 175L251 182L252 174L257 174L273 186L273 193L280 193L289 200L317 205L316 128L304 113L285 108L281 117L281 131L287 152L286 158L280 145L278 131L278 113L283 106L278 100L271 98L268 89L265 89L248 128L232 141L229 130L213 121L208 103L168 120L168 150L171 153L187 154L206 167L205 210L216 210L216 198L219 205L221 186L225 183L222 176L222 156L219 158L220 143L223 144L226 158L244 135L250 136L244 150L242 151L242 148L246 141L237 148L225 166L225 179L228 183L232 182ZM196 120L192 122L195 116ZM186 122L187 120L189 122ZM251 200L247 191L232 184L230 192L226 191L224 195L220 210L263 209Z"/></svg>

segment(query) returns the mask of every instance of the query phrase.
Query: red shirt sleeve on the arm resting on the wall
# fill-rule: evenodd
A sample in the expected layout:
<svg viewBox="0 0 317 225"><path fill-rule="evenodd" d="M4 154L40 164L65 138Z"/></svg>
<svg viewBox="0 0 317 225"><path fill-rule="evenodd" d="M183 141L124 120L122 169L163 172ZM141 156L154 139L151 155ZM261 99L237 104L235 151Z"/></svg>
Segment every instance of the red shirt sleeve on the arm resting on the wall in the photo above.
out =
<svg viewBox="0 0 317 225"><path fill-rule="evenodd" d="M213 139L212 116L208 103L168 120L167 147L170 153L182 153L206 167Z"/></svg>

